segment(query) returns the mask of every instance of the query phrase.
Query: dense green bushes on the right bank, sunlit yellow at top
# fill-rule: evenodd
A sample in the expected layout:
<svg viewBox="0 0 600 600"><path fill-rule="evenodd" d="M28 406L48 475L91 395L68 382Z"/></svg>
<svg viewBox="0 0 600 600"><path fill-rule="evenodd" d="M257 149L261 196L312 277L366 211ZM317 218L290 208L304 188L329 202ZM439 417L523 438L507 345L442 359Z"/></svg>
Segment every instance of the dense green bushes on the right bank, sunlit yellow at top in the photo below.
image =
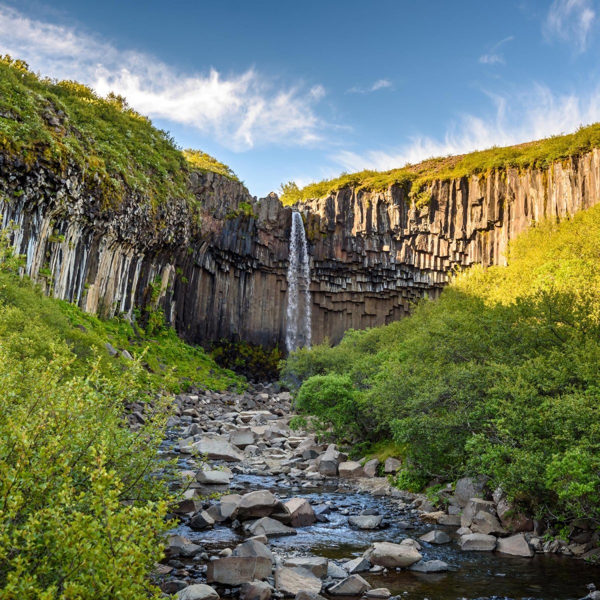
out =
<svg viewBox="0 0 600 600"><path fill-rule="evenodd" d="M472 268L406 319L293 352L282 380L338 435L393 439L403 487L485 473L539 515L600 518L598 247L600 206L538 224L508 267Z"/></svg>

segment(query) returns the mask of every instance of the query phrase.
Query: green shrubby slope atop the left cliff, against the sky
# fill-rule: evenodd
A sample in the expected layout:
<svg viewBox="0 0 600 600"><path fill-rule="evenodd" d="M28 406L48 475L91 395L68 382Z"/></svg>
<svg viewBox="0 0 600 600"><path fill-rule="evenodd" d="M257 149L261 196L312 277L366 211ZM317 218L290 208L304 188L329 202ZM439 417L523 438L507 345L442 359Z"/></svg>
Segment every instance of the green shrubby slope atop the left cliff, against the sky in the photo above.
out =
<svg viewBox="0 0 600 600"><path fill-rule="evenodd" d="M44 157L60 171L75 164L106 205L118 205L128 190L153 206L185 197L190 170L239 181L205 152L181 151L120 95L102 98L81 83L42 77L10 56L0 58L0 91L0 152L28 163Z"/></svg>

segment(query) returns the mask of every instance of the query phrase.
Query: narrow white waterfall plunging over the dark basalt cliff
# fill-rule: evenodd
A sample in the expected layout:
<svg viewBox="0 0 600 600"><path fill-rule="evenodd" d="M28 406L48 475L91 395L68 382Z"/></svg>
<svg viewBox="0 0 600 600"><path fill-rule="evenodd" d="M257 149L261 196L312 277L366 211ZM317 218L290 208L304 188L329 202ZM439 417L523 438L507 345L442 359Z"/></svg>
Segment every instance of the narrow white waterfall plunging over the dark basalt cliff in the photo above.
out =
<svg viewBox="0 0 600 600"><path fill-rule="evenodd" d="M292 213L290 260L287 267L286 347L310 347L310 266L304 223L299 212Z"/></svg>

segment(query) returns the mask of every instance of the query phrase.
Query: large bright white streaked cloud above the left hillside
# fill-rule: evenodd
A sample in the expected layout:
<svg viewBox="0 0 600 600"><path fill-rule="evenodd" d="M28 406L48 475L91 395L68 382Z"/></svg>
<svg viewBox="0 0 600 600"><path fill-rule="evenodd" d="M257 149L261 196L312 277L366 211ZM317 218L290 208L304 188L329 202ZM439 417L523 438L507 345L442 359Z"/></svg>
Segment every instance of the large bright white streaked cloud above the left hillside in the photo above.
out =
<svg viewBox="0 0 600 600"><path fill-rule="evenodd" d="M115 91L152 118L197 128L230 149L322 139L327 124L316 115L321 85L279 86L256 70L224 76L178 73L153 56L121 51L104 40L44 23L0 4L0 52L58 79L77 79L105 95Z"/></svg>

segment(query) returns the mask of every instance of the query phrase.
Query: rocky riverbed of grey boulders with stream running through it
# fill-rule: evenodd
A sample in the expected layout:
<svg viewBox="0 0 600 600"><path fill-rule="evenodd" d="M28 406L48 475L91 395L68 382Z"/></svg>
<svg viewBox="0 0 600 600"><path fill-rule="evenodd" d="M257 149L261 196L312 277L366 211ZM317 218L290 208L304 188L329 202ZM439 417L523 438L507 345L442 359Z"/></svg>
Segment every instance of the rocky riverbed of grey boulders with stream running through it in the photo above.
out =
<svg viewBox="0 0 600 600"><path fill-rule="evenodd" d="M595 553L586 523L546 540L501 493L486 498L483 479L442 490L437 506L395 490L377 475L400 463L349 461L291 431L277 385L175 401L163 451L185 499L154 573L167 596L600 600L598 568L571 557Z"/></svg>

